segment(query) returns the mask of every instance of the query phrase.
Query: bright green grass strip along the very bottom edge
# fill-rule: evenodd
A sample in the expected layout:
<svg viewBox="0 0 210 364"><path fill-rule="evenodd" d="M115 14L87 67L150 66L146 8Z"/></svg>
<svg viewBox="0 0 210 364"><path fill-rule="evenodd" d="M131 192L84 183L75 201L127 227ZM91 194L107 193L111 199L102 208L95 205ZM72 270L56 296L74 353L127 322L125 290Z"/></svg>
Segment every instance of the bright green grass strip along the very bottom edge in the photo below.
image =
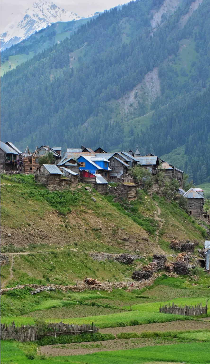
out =
<svg viewBox="0 0 210 364"><path fill-rule="evenodd" d="M36 358L34 364L54 364L68 362L86 363L86 364L140 364L149 363L153 361L176 361L179 363L190 364L208 364L210 347L207 343L182 343L173 345L161 345L143 347L130 350L118 350L98 352L87 355L75 355L75 356L57 356L51 358L45 358L36 356L36 349L31 345L25 345L1 341L1 363L17 363L25 364L27 357L25 354L31 353ZM42 360L40 359L42 358Z"/></svg>

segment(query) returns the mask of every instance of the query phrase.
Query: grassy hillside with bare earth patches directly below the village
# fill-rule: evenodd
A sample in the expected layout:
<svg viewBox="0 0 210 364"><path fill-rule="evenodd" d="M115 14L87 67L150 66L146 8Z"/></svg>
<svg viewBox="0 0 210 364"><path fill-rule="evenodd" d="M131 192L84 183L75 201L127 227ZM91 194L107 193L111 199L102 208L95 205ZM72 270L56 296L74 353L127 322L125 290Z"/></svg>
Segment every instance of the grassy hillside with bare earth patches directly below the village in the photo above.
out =
<svg viewBox="0 0 210 364"><path fill-rule="evenodd" d="M90 259L88 252L171 252L173 238L196 239L203 244L203 229L175 202L152 199L144 191L130 203L113 202L113 197L102 197L96 191L94 195L96 202L84 185L49 192L30 175L20 175L16 181L1 178L1 252L29 253L14 255L9 266L3 267L1 281L9 278L11 264L9 285L71 284L90 275L102 281L120 281L131 277L138 261L132 266L116 261L99 263ZM160 231L155 203L164 222Z"/></svg>

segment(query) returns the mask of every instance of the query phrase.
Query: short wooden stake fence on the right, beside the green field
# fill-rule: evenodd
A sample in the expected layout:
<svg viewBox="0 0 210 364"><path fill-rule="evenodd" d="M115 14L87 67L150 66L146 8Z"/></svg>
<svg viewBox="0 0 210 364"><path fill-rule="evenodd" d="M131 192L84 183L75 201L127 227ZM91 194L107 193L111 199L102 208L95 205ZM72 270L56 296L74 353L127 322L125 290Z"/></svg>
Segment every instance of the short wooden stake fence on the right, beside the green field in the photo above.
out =
<svg viewBox="0 0 210 364"><path fill-rule="evenodd" d="M206 301L206 306L202 307L202 303L200 304L195 304L194 306L187 306L187 305L181 305L180 307L174 304L174 302L172 303L172 306L169 305L165 305L165 306L160 306L159 311L160 313L172 313L172 314L176 314L176 315L183 315L183 316L199 316L201 314L206 314L207 313L207 302Z"/></svg>

